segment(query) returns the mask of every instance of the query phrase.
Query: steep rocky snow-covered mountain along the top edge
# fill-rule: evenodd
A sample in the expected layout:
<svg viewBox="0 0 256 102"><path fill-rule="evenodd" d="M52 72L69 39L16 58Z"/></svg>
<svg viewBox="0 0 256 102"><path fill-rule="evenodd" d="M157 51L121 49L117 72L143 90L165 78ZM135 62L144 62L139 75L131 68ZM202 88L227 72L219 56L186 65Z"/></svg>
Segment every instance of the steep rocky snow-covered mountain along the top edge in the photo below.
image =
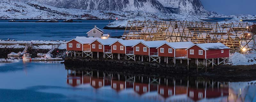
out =
<svg viewBox="0 0 256 102"><path fill-rule="evenodd" d="M36 1L58 8L100 11L143 11L176 14L216 14L204 10L199 0L12 0Z"/></svg>

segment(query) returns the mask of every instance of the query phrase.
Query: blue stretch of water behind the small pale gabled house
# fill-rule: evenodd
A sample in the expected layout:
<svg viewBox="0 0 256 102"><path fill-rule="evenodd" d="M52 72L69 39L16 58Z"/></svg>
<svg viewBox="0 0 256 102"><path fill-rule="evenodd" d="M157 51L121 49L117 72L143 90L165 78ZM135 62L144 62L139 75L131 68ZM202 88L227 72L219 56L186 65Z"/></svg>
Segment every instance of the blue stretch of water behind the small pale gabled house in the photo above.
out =
<svg viewBox="0 0 256 102"><path fill-rule="evenodd" d="M87 36L94 25L110 36L121 36L124 30L105 30L103 27L114 20L74 20L74 23L8 22L0 20L0 39L7 40L71 40L76 36ZM16 20L38 21L38 20ZM26 34L25 34L26 33Z"/></svg>

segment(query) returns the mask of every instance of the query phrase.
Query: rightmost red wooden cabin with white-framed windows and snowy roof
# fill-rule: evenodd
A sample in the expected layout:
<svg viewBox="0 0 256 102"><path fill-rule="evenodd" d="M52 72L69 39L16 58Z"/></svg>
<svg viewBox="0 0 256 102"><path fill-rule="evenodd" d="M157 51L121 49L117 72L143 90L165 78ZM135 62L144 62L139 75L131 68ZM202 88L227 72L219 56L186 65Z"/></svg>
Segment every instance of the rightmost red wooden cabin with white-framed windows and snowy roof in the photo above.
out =
<svg viewBox="0 0 256 102"><path fill-rule="evenodd" d="M230 48L222 43L194 44L187 49L188 58L213 59L229 57Z"/></svg>

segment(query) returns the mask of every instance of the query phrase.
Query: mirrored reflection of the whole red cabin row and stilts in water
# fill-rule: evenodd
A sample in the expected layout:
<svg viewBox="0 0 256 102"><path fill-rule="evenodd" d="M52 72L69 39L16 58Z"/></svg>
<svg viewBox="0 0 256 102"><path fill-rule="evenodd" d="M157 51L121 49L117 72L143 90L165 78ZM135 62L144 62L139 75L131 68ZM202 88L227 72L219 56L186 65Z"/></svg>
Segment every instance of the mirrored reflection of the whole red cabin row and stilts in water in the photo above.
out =
<svg viewBox="0 0 256 102"><path fill-rule="evenodd" d="M95 90L111 87L118 94L155 101L256 101L256 81L218 82L202 77L179 79L68 70L66 83L72 87L93 87Z"/></svg>

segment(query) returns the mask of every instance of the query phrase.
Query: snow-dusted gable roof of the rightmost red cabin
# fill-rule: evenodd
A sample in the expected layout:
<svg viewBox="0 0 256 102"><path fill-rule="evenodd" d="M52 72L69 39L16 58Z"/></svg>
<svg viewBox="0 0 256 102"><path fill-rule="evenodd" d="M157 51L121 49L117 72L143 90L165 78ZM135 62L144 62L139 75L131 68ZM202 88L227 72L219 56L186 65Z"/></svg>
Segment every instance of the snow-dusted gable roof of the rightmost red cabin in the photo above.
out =
<svg viewBox="0 0 256 102"><path fill-rule="evenodd" d="M202 48L203 50L217 50L217 49L230 49L229 47L225 46L224 44L222 43L202 43L202 44L194 44L192 45L191 47L193 46L198 46L200 48ZM188 47L186 50L188 50L189 48L191 47Z"/></svg>

